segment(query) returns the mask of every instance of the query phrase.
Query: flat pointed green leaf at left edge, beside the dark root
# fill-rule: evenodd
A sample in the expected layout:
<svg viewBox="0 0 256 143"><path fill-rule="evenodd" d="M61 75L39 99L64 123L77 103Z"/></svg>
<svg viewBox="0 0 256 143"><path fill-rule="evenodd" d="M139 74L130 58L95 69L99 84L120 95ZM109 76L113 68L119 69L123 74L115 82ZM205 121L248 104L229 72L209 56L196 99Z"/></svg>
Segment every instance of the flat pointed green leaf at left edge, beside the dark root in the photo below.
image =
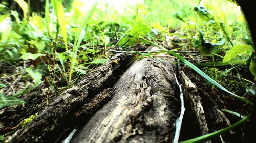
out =
<svg viewBox="0 0 256 143"><path fill-rule="evenodd" d="M26 102L17 97L8 97L4 94L0 94L0 109L4 106L13 106L13 105L18 105L23 103L26 103Z"/></svg>

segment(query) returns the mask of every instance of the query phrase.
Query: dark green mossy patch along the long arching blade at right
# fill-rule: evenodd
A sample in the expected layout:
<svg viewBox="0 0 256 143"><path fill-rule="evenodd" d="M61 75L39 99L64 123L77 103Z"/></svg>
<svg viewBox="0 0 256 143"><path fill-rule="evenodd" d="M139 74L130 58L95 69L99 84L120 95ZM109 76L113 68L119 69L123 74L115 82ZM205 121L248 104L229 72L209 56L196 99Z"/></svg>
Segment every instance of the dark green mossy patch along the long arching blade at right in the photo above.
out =
<svg viewBox="0 0 256 143"><path fill-rule="evenodd" d="M215 79L215 70L217 75L220 75L224 71L218 69L218 68L211 68L211 67L204 67L202 71L206 73L209 77L212 79ZM245 88L243 87L243 83L240 81L238 75L236 75L233 72L225 73L224 75L220 76L216 80L219 84L221 84L224 88L227 90L236 93L238 95L241 95L245 93Z"/></svg>

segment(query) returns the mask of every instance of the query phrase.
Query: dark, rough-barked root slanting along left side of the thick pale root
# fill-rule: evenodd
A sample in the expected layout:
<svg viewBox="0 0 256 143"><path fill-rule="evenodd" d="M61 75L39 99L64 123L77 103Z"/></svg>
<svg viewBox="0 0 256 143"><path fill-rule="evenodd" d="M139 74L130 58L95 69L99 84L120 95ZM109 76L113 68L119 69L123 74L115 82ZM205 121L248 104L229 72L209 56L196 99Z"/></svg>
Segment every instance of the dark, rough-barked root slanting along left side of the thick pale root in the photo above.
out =
<svg viewBox="0 0 256 143"><path fill-rule="evenodd" d="M74 120L72 119L74 112L79 110L83 104L90 102L97 93L110 88L118 80L119 74L125 70L131 58L132 55L129 54L114 56L77 85L64 91L33 121L4 142L52 142L53 137L57 137L63 128L69 125L69 121ZM98 102L100 104L101 101Z"/></svg>

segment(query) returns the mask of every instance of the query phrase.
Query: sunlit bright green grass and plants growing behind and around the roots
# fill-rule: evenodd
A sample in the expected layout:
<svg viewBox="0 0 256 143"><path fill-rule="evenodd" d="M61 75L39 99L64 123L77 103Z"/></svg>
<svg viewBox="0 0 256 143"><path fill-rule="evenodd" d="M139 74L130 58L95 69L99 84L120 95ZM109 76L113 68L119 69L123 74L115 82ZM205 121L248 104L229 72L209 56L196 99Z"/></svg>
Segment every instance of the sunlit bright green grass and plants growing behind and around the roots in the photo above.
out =
<svg viewBox="0 0 256 143"><path fill-rule="evenodd" d="M231 65L246 67L246 64L248 66L248 63L253 63L256 59L252 54L253 43L240 7L230 1L144 0L144 4L127 5L120 13L112 5L105 5L100 1L91 3L88 0L87 3L82 3L77 0L70 11L67 11L61 0L46 0L45 17L35 13L29 16L28 4L23 0L15 1L24 11L22 20L19 20L18 12L8 12L4 3L0 5L0 12L3 13L0 16L0 59L4 59L1 60L0 65L4 67L1 71L5 73L5 67L15 67L13 65L18 65L19 62L33 64L27 64L20 71L26 73L25 68L29 67L30 75L27 73L23 77L23 74L17 74L17 78L26 79L27 86L22 87L23 90L8 95L10 98L0 93L3 99L0 101L1 107L25 103L17 97L41 83L48 83L56 93L61 92L75 84L81 75L86 75L97 65L106 62L113 55L108 50L128 50L127 53L139 54L141 58L150 56L153 53L134 52L132 48L139 45L161 45L166 36L178 39L178 42L172 41L172 45L176 45L172 48L175 49L158 52L176 56L183 64L208 80L208 83L253 105L247 98L228 91L215 81L236 69L230 68ZM200 8L198 6L204 7L208 13L197 13L195 9ZM12 15L16 21L10 20ZM198 50L199 53L188 52L182 55L177 54L177 50ZM189 61L191 57L196 61ZM38 59L41 61L38 62ZM199 62L201 59L207 59L208 62ZM204 66L214 67L215 80L200 69ZM253 66L249 67L253 73ZM217 68L222 68L224 72L217 75ZM239 73L237 69L236 72ZM36 82L35 75L40 76ZM241 82L242 88L249 89L254 81L241 78ZM8 88L6 84L0 85ZM4 100L8 100L8 104ZM230 127L187 142L220 135L244 123L247 118L246 116Z"/></svg>

